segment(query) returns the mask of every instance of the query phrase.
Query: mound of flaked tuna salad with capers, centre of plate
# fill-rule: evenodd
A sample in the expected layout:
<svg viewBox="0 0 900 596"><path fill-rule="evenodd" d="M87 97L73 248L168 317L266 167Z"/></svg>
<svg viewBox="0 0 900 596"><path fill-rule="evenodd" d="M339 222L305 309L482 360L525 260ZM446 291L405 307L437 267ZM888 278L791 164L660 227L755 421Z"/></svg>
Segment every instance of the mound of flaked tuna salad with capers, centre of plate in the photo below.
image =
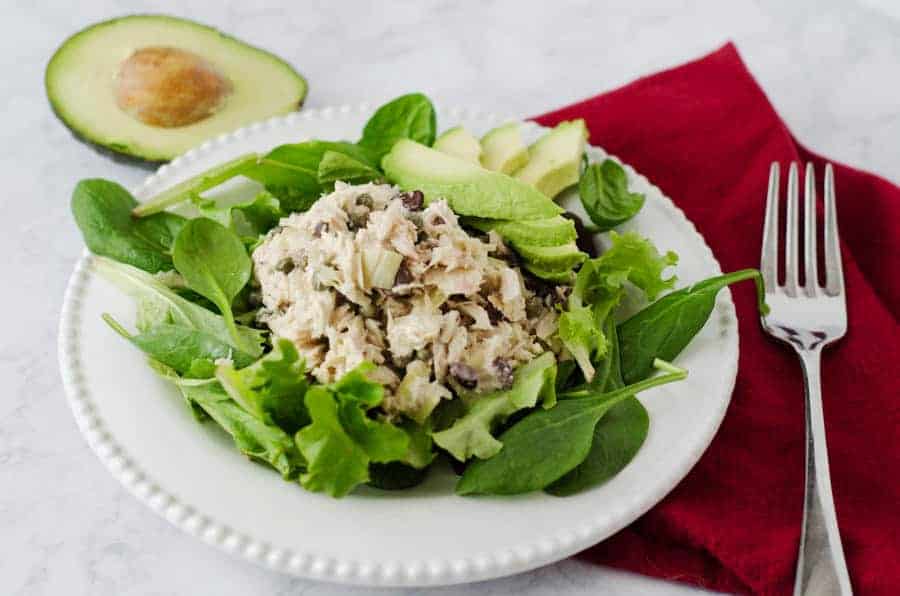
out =
<svg viewBox="0 0 900 596"><path fill-rule="evenodd" d="M337 183L252 258L258 319L320 383L374 363L391 415L424 420L455 392L508 388L519 365L560 351L567 288L523 274L499 235L468 232L419 191Z"/></svg>

